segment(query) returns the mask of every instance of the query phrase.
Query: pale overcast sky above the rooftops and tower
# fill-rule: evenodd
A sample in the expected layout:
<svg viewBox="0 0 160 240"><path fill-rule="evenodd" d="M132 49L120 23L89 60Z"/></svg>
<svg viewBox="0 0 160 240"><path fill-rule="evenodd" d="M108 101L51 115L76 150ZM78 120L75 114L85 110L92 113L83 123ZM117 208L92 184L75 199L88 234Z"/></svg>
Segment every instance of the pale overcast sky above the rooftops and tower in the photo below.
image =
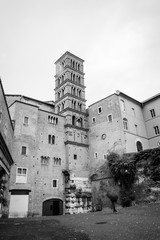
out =
<svg viewBox="0 0 160 240"><path fill-rule="evenodd" d="M87 106L119 90L160 93L159 0L0 0L0 78L6 94L54 100L55 62L85 60Z"/></svg>

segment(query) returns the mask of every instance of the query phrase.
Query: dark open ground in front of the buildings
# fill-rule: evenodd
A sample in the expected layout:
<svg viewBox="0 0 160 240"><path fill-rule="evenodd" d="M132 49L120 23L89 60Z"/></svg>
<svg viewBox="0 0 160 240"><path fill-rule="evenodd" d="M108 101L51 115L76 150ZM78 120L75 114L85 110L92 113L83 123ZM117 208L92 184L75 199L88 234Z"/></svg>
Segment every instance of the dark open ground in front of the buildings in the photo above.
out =
<svg viewBox="0 0 160 240"><path fill-rule="evenodd" d="M160 240L160 204L29 219L0 219L0 240Z"/></svg>

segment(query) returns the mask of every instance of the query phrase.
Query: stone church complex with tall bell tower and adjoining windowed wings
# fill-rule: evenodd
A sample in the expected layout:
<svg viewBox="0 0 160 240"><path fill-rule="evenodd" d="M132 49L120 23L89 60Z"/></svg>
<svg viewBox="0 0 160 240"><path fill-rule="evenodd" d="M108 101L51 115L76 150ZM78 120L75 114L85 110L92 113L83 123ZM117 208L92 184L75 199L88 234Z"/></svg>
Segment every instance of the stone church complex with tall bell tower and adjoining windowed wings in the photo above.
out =
<svg viewBox="0 0 160 240"><path fill-rule="evenodd" d="M90 174L109 151L160 145L160 94L139 102L116 93L86 109L84 60L56 62L55 102L6 95L14 125L9 217L91 210Z"/></svg>

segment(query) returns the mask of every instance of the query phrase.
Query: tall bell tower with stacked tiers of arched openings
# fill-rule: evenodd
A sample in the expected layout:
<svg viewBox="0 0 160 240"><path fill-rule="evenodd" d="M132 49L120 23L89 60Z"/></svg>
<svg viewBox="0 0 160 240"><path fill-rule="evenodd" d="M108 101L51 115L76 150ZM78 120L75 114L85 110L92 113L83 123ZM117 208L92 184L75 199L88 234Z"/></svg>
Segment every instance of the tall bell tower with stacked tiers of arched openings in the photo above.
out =
<svg viewBox="0 0 160 240"><path fill-rule="evenodd" d="M55 108L65 116L66 169L75 177L88 176L88 128L84 60L65 52L56 62Z"/></svg>

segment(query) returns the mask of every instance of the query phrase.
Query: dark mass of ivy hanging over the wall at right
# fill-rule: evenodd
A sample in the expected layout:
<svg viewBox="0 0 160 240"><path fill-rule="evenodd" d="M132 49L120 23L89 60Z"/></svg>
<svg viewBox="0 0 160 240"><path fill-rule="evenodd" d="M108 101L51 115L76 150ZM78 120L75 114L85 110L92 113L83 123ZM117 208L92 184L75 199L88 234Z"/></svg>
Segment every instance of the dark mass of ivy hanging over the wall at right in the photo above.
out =
<svg viewBox="0 0 160 240"><path fill-rule="evenodd" d="M119 200L123 207L131 206L132 201L138 197L135 192L135 183L137 183L139 170L140 174L148 179L148 183L160 184L160 148L122 155L110 152L107 160L90 176L90 180L100 180L105 176L112 177L115 184L119 186ZM143 191L143 186L141 187Z"/></svg>

